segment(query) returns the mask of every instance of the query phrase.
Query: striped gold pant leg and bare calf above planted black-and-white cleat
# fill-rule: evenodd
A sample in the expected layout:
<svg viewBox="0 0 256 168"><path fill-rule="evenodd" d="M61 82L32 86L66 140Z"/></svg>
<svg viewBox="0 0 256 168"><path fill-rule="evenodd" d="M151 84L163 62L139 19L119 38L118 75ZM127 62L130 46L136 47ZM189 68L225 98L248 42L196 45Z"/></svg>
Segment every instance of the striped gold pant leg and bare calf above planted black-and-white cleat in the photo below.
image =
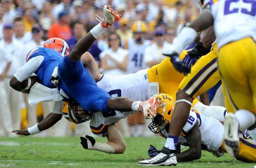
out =
<svg viewBox="0 0 256 168"><path fill-rule="evenodd" d="M175 145L173 145L172 142L178 140L180 132L187 121L193 100L220 81L220 76L217 71L216 49L201 57L191 68L191 73L180 83L171 119L172 124L170 124L169 129L170 141L168 141L169 139L167 138L167 143L165 144L165 147L171 150L175 150Z"/></svg>

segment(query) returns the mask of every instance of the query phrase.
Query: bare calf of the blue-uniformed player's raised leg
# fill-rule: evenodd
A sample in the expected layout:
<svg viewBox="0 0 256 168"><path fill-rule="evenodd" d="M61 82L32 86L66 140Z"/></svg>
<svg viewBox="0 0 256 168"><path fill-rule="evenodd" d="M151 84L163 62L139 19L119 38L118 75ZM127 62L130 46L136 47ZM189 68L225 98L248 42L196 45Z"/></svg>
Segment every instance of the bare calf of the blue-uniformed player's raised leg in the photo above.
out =
<svg viewBox="0 0 256 168"><path fill-rule="evenodd" d="M91 48L95 40L96 39L92 36L91 32L88 32L76 43L68 57L73 61L78 61L81 58L81 55Z"/></svg>

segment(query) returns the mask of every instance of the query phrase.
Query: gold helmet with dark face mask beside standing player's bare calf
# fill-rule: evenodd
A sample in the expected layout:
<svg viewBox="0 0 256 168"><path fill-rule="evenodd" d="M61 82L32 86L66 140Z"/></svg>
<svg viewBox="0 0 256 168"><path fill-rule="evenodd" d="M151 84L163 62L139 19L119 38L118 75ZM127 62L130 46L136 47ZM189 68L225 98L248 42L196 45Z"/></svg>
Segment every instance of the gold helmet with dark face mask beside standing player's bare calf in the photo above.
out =
<svg viewBox="0 0 256 168"><path fill-rule="evenodd" d="M152 118L152 122L149 124L148 128L157 134L165 129L165 126L171 122L175 101L172 96L162 93L156 94L154 97L159 100L160 105L157 108L157 115Z"/></svg>

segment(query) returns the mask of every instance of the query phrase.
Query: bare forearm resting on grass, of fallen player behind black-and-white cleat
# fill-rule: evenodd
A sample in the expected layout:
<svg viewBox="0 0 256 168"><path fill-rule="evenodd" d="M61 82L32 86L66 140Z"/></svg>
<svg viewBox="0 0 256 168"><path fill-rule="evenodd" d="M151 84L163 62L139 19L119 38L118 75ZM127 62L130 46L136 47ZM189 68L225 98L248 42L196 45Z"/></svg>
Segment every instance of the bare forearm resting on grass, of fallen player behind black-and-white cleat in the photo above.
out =
<svg viewBox="0 0 256 168"><path fill-rule="evenodd" d="M184 152L178 153L176 157L178 162L190 162L201 158L201 150L198 152L193 149L188 149Z"/></svg>

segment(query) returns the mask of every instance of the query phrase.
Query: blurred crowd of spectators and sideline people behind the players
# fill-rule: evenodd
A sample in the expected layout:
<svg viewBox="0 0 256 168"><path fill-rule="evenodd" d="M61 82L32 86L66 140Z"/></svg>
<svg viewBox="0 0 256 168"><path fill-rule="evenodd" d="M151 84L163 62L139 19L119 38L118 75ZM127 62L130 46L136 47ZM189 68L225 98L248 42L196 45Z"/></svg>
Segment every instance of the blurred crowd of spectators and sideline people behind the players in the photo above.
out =
<svg viewBox="0 0 256 168"><path fill-rule="evenodd" d="M89 52L100 72L112 75L135 73L160 63L164 48L171 48L182 27L199 14L198 0L1 0L0 136L15 136L13 129L31 127L51 111L51 102L30 107L28 95L9 86L10 78L26 63L27 53L51 37L66 40L72 50L99 23L95 15L103 17L106 4L122 18ZM67 136L72 130L76 135L85 134L83 126L74 128L66 123L61 122L47 135ZM144 124L143 115L138 113L128 121L124 119L120 129L124 136L145 136Z"/></svg>

